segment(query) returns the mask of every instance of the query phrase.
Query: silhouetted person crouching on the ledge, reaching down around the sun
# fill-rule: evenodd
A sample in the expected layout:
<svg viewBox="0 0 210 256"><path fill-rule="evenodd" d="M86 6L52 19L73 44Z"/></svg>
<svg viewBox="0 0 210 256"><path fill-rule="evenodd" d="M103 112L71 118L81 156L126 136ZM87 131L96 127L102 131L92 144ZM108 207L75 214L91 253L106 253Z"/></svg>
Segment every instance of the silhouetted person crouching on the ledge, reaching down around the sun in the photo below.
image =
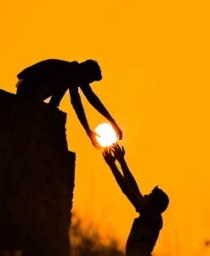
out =
<svg viewBox="0 0 210 256"><path fill-rule="evenodd" d="M69 89L71 104L77 113L83 128L95 148L100 148L95 136L88 125L78 88L88 99L88 102L106 119L111 122L119 139L122 139L122 131L116 125L116 121L94 94L90 85L94 81L102 79L101 70L97 61L87 60L81 63L77 61L62 61L49 59L37 62L31 67L26 67L17 75L19 81L16 84L17 95L31 100L44 101L51 96L49 105L58 107L65 91Z"/></svg>

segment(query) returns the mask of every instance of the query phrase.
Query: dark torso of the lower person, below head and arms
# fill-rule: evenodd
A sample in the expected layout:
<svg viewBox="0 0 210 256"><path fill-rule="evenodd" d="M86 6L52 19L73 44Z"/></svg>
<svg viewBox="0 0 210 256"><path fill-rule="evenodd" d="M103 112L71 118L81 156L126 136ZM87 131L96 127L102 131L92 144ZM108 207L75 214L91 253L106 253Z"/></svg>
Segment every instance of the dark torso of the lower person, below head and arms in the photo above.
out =
<svg viewBox="0 0 210 256"><path fill-rule="evenodd" d="M126 244L126 256L150 256L162 229L162 215L153 211L135 218Z"/></svg>

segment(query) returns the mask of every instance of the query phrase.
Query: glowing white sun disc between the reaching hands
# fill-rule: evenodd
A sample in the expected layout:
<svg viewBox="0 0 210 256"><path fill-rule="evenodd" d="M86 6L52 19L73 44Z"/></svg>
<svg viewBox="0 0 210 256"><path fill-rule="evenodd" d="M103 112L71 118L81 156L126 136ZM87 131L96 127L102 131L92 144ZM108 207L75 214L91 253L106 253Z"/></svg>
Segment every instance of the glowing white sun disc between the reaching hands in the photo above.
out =
<svg viewBox="0 0 210 256"><path fill-rule="evenodd" d="M101 147L109 147L112 143L116 143L116 131L112 128L111 124L101 124L95 128L95 132L99 134L96 139Z"/></svg>

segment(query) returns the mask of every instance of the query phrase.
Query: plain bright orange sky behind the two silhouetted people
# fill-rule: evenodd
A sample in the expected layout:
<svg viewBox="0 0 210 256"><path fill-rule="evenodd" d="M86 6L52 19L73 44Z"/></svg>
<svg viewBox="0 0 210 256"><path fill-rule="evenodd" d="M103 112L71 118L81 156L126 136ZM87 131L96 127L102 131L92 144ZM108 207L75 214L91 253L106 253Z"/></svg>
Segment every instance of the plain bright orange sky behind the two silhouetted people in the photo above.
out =
<svg viewBox="0 0 210 256"><path fill-rule="evenodd" d="M143 194L170 197L155 251L198 255L210 240L209 25L204 0L1 1L1 89L48 58L99 62L92 85L123 131L126 160ZM82 97L92 129L104 122ZM133 207L92 147L66 94L69 149L77 153L74 209L125 243ZM210 255L210 248L201 255Z"/></svg>

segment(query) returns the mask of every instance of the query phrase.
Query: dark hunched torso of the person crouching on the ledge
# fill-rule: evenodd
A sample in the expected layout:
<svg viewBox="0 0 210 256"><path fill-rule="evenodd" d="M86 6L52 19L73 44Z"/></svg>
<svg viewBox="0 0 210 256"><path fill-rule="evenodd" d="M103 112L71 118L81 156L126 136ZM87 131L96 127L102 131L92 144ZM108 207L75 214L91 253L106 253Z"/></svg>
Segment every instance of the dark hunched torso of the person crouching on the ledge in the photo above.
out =
<svg viewBox="0 0 210 256"><path fill-rule="evenodd" d="M85 83L77 61L56 59L40 61L27 67L18 74L18 79L23 79L17 89L18 95L39 101L52 96L54 99L51 102L55 107L59 106L66 90Z"/></svg>

